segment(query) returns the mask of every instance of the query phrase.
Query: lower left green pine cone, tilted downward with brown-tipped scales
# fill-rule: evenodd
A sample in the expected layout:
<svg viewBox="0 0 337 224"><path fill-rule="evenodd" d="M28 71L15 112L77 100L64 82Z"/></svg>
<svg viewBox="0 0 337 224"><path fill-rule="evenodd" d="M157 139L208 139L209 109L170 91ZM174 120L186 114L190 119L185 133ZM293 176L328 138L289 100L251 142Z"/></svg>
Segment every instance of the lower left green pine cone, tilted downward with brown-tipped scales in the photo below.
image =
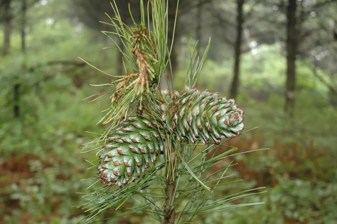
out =
<svg viewBox="0 0 337 224"><path fill-rule="evenodd" d="M132 182L164 152L165 131L145 117L127 118L110 142L103 146L107 153L100 155L98 175L101 183L121 187Z"/></svg>

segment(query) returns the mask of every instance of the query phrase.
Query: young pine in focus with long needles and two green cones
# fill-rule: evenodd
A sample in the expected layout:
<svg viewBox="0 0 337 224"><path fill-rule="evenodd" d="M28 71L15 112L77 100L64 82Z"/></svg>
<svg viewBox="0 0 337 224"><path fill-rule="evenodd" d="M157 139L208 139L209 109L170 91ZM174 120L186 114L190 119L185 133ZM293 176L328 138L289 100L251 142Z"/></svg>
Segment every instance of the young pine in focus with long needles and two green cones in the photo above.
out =
<svg viewBox="0 0 337 224"><path fill-rule="evenodd" d="M98 182L103 184L96 188L97 182L93 183L93 191L85 195L88 202L81 206L88 213L86 222L97 221L114 208L123 210L122 215L146 212L159 223L190 223L196 215L260 204L231 204L261 193L257 189L214 196L216 189L229 183L226 171L233 164L215 172L210 168L235 155L237 149L228 146L228 150L216 152L222 142L240 134L244 112L234 99L194 87L208 46L201 60L196 46L190 52L185 91L175 91L173 82L161 90L160 81L168 80L166 75L172 72L173 43L167 40L174 38L167 36L167 0L140 3L140 24L129 8L133 26L128 27L112 4L115 17L108 17L114 31L102 31L122 53L125 73L113 76L109 84L112 91L98 97L111 94L112 104L100 121L110 126L85 147L86 151L97 150L98 161L91 164L98 169ZM119 37L123 47L110 35ZM130 208L125 202L132 198Z"/></svg>

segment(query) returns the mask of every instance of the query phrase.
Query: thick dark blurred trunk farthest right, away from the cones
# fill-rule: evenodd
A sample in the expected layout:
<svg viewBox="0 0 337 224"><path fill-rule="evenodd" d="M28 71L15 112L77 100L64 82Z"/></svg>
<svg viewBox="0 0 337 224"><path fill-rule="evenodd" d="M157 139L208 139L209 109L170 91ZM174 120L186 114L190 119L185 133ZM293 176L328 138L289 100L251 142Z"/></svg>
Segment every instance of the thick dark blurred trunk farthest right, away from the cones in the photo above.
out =
<svg viewBox="0 0 337 224"><path fill-rule="evenodd" d="M296 0L289 0L287 6L287 81L285 91L285 111L292 116L295 102L295 74L296 74L296 52L297 52L297 30L296 30Z"/></svg>

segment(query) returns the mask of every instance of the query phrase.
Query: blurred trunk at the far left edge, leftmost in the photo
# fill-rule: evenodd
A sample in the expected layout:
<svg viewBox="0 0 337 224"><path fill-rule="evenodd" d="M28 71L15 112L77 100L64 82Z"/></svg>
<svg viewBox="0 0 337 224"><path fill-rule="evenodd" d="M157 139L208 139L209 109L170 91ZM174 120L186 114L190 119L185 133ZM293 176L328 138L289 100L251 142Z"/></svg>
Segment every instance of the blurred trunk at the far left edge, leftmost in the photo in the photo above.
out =
<svg viewBox="0 0 337 224"><path fill-rule="evenodd" d="M10 2L11 0L3 0L4 4L4 39L3 39L3 46L2 46L2 55L6 56L9 54L10 48L10 33L11 33L11 21L12 15L10 11Z"/></svg>

